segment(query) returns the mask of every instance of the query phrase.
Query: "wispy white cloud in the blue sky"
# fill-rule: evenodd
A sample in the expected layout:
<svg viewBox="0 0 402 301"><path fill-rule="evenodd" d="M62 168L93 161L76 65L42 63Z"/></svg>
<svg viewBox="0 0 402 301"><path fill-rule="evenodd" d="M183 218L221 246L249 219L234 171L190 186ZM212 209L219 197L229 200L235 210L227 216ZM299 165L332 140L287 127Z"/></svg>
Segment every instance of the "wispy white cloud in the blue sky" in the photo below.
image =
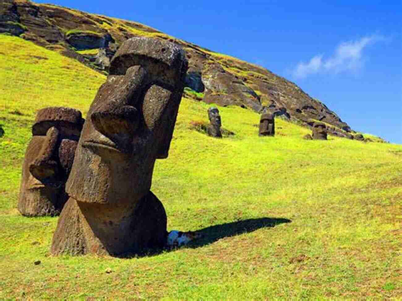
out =
<svg viewBox="0 0 402 301"><path fill-rule="evenodd" d="M314 56L308 63L300 62L297 64L297 67L293 70L293 76L304 78L310 74L320 72L357 71L364 63L363 49L368 45L383 40L385 40L383 36L371 35L357 41L340 43L330 58L323 60L323 55L321 54Z"/></svg>

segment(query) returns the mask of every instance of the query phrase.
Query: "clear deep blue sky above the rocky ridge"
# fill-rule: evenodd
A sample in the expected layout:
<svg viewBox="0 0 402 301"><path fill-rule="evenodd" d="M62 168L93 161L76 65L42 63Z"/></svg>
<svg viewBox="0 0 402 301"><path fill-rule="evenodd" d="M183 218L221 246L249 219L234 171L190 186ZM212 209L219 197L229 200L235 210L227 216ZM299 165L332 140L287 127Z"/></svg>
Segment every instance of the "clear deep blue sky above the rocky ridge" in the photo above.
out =
<svg viewBox="0 0 402 301"><path fill-rule="evenodd" d="M353 129L402 144L400 0L51 3L137 21L263 66Z"/></svg>

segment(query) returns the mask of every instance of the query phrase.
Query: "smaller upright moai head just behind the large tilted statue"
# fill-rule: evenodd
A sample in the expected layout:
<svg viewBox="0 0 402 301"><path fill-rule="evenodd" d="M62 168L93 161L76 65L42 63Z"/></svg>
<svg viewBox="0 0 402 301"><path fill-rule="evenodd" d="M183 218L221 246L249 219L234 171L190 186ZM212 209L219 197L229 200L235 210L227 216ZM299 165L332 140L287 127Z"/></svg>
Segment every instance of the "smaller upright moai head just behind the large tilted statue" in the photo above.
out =
<svg viewBox="0 0 402 301"><path fill-rule="evenodd" d="M68 199L65 185L84 120L66 107L38 111L25 152L18 210L25 216L55 216Z"/></svg>

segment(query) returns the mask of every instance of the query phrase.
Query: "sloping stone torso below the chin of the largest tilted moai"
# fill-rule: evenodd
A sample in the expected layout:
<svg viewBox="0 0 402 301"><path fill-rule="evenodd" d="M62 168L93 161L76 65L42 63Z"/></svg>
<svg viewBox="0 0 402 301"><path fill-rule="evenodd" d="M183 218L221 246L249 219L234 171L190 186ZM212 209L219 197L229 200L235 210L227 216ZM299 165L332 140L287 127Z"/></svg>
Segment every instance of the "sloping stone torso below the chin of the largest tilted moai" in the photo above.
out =
<svg viewBox="0 0 402 301"><path fill-rule="evenodd" d="M166 212L150 191L116 221L116 204L77 202L69 198L59 217L50 252L81 255L143 252L166 243ZM124 214L123 210L121 213ZM110 212L112 213L110 216ZM121 226L123 228L121 229ZM63 229L63 231L60 231Z"/></svg>

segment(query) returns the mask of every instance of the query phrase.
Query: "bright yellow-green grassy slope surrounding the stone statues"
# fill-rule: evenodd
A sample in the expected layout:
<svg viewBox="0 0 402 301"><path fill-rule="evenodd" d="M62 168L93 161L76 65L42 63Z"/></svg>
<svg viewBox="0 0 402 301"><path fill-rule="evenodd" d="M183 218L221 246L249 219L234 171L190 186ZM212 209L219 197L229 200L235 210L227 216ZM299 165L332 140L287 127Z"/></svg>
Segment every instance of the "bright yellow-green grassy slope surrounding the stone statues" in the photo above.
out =
<svg viewBox="0 0 402 301"><path fill-rule="evenodd" d="M16 37L0 35L0 57L1 299L402 295L401 145L307 141L309 130L281 119L261 138L258 114L239 107L219 107L235 135L214 139L191 128L208 105L186 98L152 191L168 230L205 238L142 258L50 256L57 218L16 209L30 127L47 106L85 115L105 76Z"/></svg>

